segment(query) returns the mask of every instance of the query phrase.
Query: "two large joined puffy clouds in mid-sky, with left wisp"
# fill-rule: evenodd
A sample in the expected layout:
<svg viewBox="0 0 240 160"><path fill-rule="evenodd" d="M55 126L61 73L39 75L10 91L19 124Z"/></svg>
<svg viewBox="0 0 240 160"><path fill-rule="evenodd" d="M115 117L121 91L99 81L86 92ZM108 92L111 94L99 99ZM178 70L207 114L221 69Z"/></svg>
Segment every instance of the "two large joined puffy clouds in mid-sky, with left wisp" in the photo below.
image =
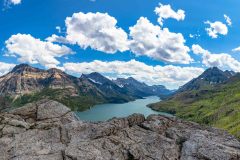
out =
<svg viewBox="0 0 240 160"><path fill-rule="evenodd" d="M189 64L193 61L181 33L162 29L144 17L129 28L129 37L116 26L117 20L107 13L74 13L66 18L65 24L65 37L53 34L46 41L77 44L83 49L90 47L109 54L130 50L137 56L170 63Z"/></svg>

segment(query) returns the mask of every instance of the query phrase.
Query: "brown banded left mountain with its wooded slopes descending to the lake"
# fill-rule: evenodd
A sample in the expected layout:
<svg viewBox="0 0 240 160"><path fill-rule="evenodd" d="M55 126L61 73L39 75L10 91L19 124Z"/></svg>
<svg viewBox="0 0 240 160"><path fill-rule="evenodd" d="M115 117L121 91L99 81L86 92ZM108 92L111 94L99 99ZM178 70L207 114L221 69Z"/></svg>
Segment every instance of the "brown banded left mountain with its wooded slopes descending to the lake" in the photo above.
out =
<svg viewBox="0 0 240 160"><path fill-rule="evenodd" d="M73 110L85 110L99 103L134 100L118 92L120 88L117 85L112 87L109 92L110 89L104 90L101 85L84 77L77 78L58 69L42 70L21 64L0 77L0 110L43 98L57 100Z"/></svg>

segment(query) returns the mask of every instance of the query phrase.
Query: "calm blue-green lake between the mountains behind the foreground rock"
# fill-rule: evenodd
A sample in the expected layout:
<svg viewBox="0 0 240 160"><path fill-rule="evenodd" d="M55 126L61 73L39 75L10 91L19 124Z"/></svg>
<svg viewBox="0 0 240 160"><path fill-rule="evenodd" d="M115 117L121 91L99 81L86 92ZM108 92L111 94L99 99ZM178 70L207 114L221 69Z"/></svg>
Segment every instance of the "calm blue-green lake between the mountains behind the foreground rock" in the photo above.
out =
<svg viewBox="0 0 240 160"><path fill-rule="evenodd" d="M76 112L76 115L85 121L106 121L113 117L127 117L134 113L141 113L145 116L150 114L161 114L166 116L172 116L163 112L156 112L148 108L147 105L150 103L159 102L159 97L152 96L145 99L137 99L132 102L123 104L100 104L95 105L91 109L84 112Z"/></svg>

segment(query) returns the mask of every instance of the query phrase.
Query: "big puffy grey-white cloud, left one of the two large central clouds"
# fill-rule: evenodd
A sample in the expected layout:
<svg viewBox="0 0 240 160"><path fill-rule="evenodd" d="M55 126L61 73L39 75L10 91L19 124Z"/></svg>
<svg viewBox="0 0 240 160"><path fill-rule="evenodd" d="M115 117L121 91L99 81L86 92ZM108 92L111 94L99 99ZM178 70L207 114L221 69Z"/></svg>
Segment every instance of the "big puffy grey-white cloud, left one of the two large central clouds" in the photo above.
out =
<svg viewBox="0 0 240 160"><path fill-rule="evenodd" d="M81 48L116 53L128 50L128 36L116 26L117 20L107 13L74 13L65 20L66 39Z"/></svg>

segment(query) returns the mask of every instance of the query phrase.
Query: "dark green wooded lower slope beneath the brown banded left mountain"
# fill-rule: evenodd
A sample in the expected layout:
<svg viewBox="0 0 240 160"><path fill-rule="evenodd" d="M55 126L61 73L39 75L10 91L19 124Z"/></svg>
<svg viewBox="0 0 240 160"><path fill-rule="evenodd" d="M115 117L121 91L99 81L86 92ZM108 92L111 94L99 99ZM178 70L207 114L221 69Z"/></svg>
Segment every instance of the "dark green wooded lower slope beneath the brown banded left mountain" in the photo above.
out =
<svg viewBox="0 0 240 160"><path fill-rule="evenodd" d="M36 102L41 99L51 99L58 101L73 111L84 111L91 106L99 103L103 103L105 100L102 97L96 97L91 95L84 95L79 93L78 95L71 95L71 91L68 89L43 89L41 92L23 95L15 100L11 97L2 97L0 103L11 108L21 107L27 103ZM2 105L2 106L4 106ZM4 109L4 107L2 107Z"/></svg>

